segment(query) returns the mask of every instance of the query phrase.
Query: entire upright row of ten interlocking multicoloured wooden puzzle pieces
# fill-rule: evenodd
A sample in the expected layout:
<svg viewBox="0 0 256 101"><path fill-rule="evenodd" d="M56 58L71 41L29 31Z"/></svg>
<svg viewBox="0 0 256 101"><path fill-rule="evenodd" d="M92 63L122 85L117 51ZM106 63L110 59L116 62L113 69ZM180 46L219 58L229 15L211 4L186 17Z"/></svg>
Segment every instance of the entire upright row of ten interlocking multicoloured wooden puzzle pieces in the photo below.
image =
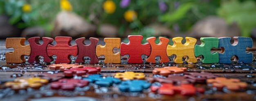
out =
<svg viewBox="0 0 256 101"><path fill-rule="evenodd" d="M155 57L160 56L160 63L169 62L168 56L175 55L175 63L183 63L182 57L187 56L185 62L197 62L195 56L202 55L203 63L231 63L231 57L236 56L235 61L251 63L252 53L247 53L246 48L252 47L252 38L234 37L231 45L230 37L201 38L201 45L195 45L196 39L186 37L186 43L182 44L182 37L173 38L173 45L168 45L169 39L159 37L160 42L155 44L155 37L147 39L148 43L141 44L143 39L139 35L129 35L129 43L121 43L120 38L105 38L106 45L97 45L99 39L90 38L90 45L85 45L85 38L76 39L77 45L70 45L71 37L56 37L56 45L52 45L52 38L43 37L44 43L39 44L40 37L28 39L30 45L25 45L25 38L7 38L6 48L13 48L14 52L7 52L7 63L25 62L24 55L30 56L28 62L39 62L38 56L43 56L45 62L53 61L53 55L57 58L55 63L70 63L70 55L77 56L76 63L84 63L83 57L91 58L90 64L99 62L97 56L105 56L105 63L120 63L121 56L129 55L128 63L143 63L141 55L146 55L146 62L155 63ZM120 44L121 43L121 44ZM114 48L120 48L120 52L114 53ZM211 48L222 48L220 53L211 53Z"/></svg>

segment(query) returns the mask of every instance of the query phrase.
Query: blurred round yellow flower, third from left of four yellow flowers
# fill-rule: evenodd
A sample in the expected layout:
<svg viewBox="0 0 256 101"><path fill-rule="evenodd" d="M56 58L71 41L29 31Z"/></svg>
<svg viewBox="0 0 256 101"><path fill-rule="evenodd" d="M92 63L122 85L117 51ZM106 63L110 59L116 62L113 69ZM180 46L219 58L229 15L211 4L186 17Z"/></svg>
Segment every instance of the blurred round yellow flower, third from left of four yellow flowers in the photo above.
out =
<svg viewBox="0 0 256 101"><path fill-rule="evenodd" d="M116 10L116 5L112 0L107 0L106 2L103 3L103 9L105 10L106 13L114 13Z"/></svg>

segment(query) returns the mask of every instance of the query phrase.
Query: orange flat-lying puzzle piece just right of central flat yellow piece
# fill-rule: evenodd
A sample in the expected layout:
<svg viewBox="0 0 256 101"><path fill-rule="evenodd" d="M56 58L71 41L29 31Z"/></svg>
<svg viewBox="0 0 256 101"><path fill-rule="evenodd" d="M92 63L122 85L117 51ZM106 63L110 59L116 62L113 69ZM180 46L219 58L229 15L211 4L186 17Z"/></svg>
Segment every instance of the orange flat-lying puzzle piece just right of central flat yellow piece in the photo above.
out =
<svg viewBox="0 0 256 101"><path fill-rule="evenodd" d="M186 72L186 67L163 67L163 68L155 68L152 73L153 74L159 74L163 76L168 76L170 74L177 74L177 73L183 73Z"/></svg>

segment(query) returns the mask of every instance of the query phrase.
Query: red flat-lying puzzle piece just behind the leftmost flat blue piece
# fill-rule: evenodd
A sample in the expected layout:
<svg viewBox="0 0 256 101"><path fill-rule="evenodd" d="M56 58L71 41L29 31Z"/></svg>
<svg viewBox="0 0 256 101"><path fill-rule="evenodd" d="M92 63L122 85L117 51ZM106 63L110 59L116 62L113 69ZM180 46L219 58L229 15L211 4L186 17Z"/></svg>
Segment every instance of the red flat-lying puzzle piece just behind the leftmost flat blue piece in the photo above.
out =
<svg viewBox="0 0 256 101"><path fill-rule="evenodd" d="M72 77L73 75L81 76L86 74L97 74L101 72L100 67L82 67L82 68L71 68L64 70L64 75Z"/></svg>

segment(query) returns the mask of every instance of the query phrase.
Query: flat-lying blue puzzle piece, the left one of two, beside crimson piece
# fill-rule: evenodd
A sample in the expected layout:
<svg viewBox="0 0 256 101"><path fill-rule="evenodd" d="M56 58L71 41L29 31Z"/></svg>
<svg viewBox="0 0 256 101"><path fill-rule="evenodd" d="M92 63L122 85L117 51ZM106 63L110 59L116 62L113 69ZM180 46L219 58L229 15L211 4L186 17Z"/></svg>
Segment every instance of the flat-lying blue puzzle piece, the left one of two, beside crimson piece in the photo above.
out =
<svg viewBox="0 0 256 101"><path fill-rule="evenodd" d="M89 75L87 78L83 78L83 80L94 82L101 87L108 87L121 82L120 79L114 77L102 77L100 74Z"/></svg>

